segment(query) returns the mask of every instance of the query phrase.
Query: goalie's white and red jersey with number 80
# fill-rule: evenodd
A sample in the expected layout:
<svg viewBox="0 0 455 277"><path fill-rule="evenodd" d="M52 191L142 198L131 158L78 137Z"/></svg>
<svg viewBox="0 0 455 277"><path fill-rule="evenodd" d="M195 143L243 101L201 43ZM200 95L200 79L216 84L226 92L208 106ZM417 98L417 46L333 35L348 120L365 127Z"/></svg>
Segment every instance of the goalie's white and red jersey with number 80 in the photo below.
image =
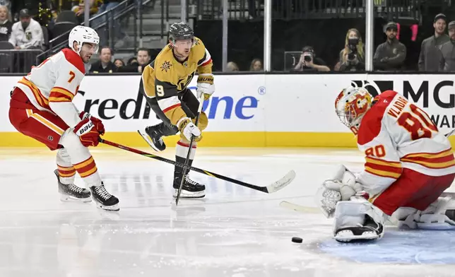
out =
<svg viewBox="0 0 455 277"><path fill-rule="evenodd" d="M358 181L370 196L389 187L403 168L429 176L455 173L449 140L426 112L392 90L373 102L358 131L358 147L366 160Z"/></svg>

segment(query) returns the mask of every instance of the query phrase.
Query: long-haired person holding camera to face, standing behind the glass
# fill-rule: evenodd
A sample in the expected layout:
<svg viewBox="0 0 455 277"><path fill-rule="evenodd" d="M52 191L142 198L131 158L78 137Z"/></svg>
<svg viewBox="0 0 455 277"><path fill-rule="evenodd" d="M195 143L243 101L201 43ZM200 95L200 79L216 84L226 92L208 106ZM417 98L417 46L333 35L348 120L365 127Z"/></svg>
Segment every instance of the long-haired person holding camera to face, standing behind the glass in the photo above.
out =
<svg viewBox="0 0 455 277"><path fill-rule="evenodd" d="M340 51L339 71L365 70L365 45L359 30L349 29L344 48Z"/></svg>

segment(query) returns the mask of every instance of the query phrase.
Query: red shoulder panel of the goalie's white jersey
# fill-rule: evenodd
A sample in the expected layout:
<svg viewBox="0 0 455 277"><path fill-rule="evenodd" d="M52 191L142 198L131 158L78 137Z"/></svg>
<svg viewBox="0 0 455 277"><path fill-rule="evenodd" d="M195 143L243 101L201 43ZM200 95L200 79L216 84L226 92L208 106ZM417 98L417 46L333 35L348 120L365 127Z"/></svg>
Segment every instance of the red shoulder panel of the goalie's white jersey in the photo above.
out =
<svg viewBox="0 0 455 277"><path fill-rule="evenodd" d="M396 94L394 90L386 90L373 99L372 107L363 116L362 122L360 123L357 138L358 144L364 145L369 143L379 135L384 113L392 100L394 100Z"/></svg>

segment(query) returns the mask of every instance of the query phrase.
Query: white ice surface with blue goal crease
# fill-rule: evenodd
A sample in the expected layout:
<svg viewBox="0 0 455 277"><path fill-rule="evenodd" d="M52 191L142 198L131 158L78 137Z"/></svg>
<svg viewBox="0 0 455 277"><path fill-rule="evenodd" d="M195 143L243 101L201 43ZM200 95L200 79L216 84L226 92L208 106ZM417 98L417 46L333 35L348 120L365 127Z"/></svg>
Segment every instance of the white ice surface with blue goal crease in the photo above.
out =
<svg viewBox="0 0 455 277"><path fill-rule="evenodd" d="M291 169L297 177L264 194L193 172L206 198L172 210L172 165L91 149L119 213L59 201L55 153L0 148L0 276L455 276L455 231L388 228L363 245L331 239L313 194L339 163L360 170L358 151L199 148L196 167L245 182L265 186ZM308 212L281 208L283 200Z"/></svg>

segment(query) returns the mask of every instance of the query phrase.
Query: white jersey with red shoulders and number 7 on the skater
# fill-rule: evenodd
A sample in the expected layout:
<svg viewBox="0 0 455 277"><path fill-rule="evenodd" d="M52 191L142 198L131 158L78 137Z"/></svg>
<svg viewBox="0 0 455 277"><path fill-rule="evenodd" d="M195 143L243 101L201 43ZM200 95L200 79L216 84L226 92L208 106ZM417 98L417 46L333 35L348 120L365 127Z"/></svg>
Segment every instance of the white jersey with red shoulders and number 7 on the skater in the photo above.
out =
<svg viewBox="0 0 455 277"><path fill-rule="evenodd" d="M81 56L72 49L63 49L34 66L16 86L38 110L53 112L73 127L81 122L72 100L84 75Z"/></svg>

